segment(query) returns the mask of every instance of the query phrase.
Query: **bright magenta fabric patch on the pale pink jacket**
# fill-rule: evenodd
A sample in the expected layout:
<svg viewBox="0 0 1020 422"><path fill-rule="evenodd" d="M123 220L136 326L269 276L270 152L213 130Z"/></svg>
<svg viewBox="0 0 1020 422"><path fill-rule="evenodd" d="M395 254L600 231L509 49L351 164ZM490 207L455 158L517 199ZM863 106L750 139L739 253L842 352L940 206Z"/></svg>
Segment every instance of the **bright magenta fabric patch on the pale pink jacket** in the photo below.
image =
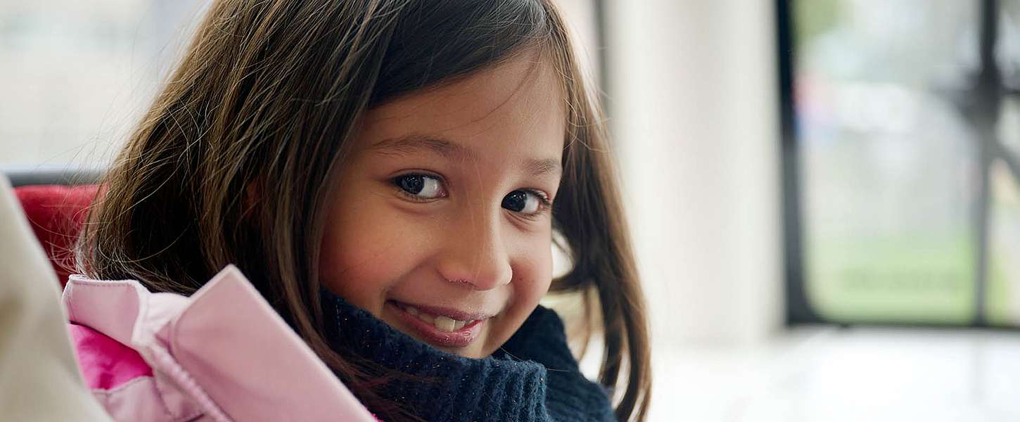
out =
<svg viewBox="0 0 1020 422"><path fill-rule="evenodd" d="M113 389L140 376L152 376L142 355L87 326L68 327L78 363L89 388Z"/></svg>

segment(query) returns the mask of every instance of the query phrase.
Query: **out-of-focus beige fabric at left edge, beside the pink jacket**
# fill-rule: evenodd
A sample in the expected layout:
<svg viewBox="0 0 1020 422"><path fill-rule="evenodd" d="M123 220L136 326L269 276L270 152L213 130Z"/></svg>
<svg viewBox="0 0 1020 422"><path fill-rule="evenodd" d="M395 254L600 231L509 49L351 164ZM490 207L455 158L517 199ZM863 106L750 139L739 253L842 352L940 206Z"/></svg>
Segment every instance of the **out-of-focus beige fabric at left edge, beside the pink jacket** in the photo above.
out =
<svg viewBox="0 0 1020 422"><path fill-rule="evenodd" d="M0 175L0 420L110 420L82 379L59 285Z"/></svg>

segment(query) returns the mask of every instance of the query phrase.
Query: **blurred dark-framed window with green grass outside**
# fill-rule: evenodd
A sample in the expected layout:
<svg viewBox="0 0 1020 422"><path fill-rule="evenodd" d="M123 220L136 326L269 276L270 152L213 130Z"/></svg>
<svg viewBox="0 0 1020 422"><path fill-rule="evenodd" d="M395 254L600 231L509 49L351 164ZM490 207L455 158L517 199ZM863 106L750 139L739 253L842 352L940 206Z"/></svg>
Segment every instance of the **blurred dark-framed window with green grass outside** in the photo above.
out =
<svg viewBox="0 0 1020 422"><path fill-rule="evenodd" d="M1020 324L1020 1L778 5L789 320Z"/></svg>

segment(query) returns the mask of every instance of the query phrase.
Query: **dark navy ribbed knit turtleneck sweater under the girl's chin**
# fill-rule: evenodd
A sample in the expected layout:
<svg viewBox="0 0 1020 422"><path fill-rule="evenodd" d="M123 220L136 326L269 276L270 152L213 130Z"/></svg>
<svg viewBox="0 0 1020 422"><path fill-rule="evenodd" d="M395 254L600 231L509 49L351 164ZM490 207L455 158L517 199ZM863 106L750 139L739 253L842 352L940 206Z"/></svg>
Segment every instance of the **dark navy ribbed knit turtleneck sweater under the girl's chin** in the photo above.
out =
<svg viewBox="0 0 1020 422"><path fill-rule="evenodd" d="M381 392L426 421L615 421L605 389L580 373L563 322L550 309L536 309L492 357L469 359L404 334L329 292L321 300L330 346L413 375Z"/></svg>

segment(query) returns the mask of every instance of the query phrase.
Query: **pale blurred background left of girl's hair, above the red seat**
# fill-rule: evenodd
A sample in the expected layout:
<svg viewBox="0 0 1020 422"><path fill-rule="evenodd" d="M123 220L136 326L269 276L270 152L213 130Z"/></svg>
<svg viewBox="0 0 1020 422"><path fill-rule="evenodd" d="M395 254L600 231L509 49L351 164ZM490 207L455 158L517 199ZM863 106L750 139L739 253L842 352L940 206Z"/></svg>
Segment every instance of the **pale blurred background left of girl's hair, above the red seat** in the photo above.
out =
<svg viewBox="0 0 1020 422"><path fill-rule="evenodd" d="M208 0L0 0L0 166L101 168Z"/></svg>

